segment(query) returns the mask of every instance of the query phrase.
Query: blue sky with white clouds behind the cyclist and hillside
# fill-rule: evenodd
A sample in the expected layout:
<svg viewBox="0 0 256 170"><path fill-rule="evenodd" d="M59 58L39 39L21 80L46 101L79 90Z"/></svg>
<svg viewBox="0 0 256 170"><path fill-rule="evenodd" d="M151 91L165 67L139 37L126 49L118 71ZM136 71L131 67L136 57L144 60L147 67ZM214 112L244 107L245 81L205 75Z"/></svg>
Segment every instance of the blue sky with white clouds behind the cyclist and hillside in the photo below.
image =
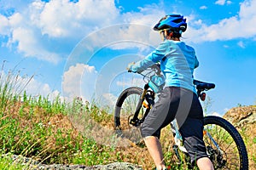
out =
<svg viewBox="0 0 256 170"><path fill-rule="evenodd" d="M255 8L256 0L0 0L0 64L4 74L15 68L20 77L35 75L26 87L34 96L93 96L113 104L122 89L143 85L125 67L160 42L154 24L183 14L182 41L200 61L195 78L216 83L207 92L208 112L224 114L255 105Z"/></svg>

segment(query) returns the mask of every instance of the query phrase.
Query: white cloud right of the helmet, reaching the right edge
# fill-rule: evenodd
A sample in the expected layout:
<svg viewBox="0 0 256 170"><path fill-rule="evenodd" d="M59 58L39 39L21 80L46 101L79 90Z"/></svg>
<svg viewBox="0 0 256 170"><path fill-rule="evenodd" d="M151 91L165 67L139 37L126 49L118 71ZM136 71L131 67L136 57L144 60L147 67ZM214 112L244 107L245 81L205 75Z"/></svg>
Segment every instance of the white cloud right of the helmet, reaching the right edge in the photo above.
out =
<svg viewBox="0 0 256 170"><path fill-rule="evenodd" d="M194 20L193 16L190 16L191 23L188 28L188 34L191 42L207 42L216 40L230 40L234 38L255 38L256 30L254 29L254 23L256 22L256 0L245 1L241 3L240 11L238 15L230 18L220 20L218 24L207 26L199 20ZM200 26L198 24L201 24ZM199 27L195 29L194 27Z"/></svg>

